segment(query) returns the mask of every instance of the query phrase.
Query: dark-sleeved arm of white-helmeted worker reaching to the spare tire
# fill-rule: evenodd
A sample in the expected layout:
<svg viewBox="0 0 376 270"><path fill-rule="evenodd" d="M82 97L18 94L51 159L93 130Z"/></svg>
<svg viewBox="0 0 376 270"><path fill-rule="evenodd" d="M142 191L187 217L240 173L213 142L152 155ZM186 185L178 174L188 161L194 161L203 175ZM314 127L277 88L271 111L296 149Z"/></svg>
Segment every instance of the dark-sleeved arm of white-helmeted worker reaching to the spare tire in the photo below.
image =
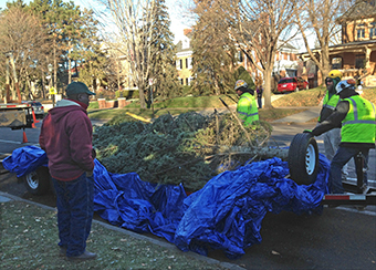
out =
<svg viewBox="0 0 376 270"><path fill-rule="evenodd" d="M349 103L347 101L341 101L331 116L320 123L320 125L312 131L312 135L320 136L321 134L335 127L341 127L342 121L346 117L348 110Z"/></svg>

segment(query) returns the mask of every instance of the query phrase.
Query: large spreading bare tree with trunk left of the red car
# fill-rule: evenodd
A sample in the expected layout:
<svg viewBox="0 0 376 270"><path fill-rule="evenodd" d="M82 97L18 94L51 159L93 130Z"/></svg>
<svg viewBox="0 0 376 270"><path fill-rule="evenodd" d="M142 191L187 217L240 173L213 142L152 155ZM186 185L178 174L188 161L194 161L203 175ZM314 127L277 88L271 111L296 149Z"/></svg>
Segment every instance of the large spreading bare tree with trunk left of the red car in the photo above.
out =
<svg viewBox="0 0 376 270"><path fill-rule="evenodd" d="M223 4L227 2L222 0ZM275 53L297 34L293 21L304 1L299 0L239 0L232 9L238 27L231 37L263 75L265 107L271 104L271 81Z"/></svg>

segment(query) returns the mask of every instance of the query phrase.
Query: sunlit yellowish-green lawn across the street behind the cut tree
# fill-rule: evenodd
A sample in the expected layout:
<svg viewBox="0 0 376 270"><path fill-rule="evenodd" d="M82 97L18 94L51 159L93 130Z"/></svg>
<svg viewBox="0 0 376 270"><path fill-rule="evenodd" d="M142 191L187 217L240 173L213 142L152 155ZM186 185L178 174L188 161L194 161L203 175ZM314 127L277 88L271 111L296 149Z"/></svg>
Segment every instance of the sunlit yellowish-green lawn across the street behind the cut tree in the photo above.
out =
<svg viewBox="0 0 376 270"><path fill-rule="evenodd" d="M316 87L307 91L283 94L280 98L272 102L273 108L260 110L260 118L272 122L285 116L304 111L306 106L318 106L325 95L325 89ZM376 104L376 87L363 90L363 96ZM236 95L213 95L213 96L186 96L177 97L154 104L154 117L164 114L181 114L205 108L223 108L224 105L219 100L221 97L229 106L236 105L238 97ZM299 107L299 108L296 108ZM139 108L138 102L133 102L124 108L98 110L97 102L92 102L88 107L88 117L96 120L111 120L115 116L125 116L130 112L144 118L153 118L152 108Z"/></svg>

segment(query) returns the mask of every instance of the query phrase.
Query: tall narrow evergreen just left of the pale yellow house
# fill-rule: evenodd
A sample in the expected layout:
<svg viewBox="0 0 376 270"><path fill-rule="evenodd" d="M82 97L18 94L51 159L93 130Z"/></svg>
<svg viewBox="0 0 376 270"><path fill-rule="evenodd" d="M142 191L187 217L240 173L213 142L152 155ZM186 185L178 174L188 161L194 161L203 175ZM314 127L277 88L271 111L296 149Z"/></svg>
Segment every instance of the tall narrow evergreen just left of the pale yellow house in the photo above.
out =
<svg viewBox="0 0 376 270"><path fill-rule="evenodd" d="M175 68L174 34L165 0L156 0L153 22L152 70L154 95L161 98L179 96L181 86Z"/></svg>

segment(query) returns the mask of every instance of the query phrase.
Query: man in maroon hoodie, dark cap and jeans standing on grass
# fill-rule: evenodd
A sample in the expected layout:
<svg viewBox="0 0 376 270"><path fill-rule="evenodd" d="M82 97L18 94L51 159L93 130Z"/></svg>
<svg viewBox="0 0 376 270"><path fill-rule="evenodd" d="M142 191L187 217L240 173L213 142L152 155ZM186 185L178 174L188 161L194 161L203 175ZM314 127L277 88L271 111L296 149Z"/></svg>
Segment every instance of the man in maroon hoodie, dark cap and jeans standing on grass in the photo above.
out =
<svg viewBox="0 0 376 270"><path fill-rule="evenodd" d="M93 219L95 152L86 110L90 95L95 93L84 83L73 82L66 95L43 120L39 143L49 158L56 190L60 255L88 260L96 258L86 250Z"/></svg>

